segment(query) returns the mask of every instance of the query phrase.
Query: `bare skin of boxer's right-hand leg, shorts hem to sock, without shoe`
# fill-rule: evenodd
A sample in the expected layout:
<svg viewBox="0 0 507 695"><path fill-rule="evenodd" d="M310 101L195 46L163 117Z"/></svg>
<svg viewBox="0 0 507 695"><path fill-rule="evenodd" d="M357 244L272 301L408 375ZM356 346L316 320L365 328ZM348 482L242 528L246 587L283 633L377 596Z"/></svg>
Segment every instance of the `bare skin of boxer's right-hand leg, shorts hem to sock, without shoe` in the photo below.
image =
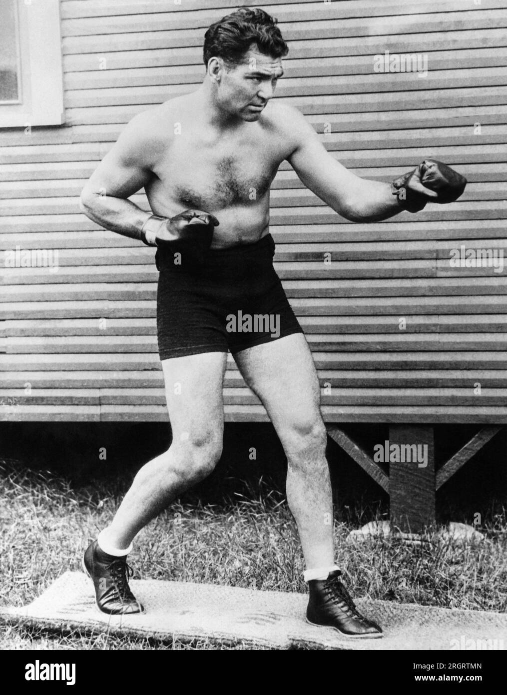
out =
<svg viewBox="0 0 507 695"><path fill-rule="evenodd" d="M235 354L263 402L288 459L287 501L308 569L333 565L333 509L326 428L315 365L303 334Z"/></svg>

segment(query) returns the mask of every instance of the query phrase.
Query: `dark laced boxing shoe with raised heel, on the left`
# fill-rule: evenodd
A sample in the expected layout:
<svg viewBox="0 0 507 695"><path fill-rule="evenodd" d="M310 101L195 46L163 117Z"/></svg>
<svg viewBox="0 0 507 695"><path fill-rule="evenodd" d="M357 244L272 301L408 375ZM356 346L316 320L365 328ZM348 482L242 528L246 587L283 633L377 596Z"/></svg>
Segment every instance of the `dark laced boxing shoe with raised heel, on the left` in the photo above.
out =
<svg viewBox="0 0 507 695"><path fill-rule="evenodd" d="M83 570L94 584L97 607L103 613L144 613L144 607L128 586L133 569L127 564L126 555L108 555L93 541L85 550Z"/></svg>

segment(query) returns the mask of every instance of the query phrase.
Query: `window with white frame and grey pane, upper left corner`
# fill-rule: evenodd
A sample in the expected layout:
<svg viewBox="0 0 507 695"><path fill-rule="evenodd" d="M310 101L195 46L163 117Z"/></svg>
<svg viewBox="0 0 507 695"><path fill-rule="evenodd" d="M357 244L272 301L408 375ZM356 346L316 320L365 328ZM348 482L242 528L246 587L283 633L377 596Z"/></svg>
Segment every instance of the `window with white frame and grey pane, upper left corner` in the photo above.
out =
<svg viewBox="0 0 507 695"><path fill-rule="evenodd" d="M0 127L62 123L59 0L0 0Z"/></svg>

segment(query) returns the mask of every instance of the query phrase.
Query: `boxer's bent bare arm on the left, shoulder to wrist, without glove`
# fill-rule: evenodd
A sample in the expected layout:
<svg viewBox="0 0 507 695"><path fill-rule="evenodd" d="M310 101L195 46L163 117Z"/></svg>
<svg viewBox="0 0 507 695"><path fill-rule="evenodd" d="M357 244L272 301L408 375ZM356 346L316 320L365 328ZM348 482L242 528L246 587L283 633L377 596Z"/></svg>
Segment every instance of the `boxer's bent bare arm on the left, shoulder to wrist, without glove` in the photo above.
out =
<svg viewBox="0 0 507 695"><path fill-rule="evenodd" d="M153 176L158 143L150 122L151 115L141 113L127 124L81 193L81 210L90 220L135 239L151 213L127 198Z"/></svg>

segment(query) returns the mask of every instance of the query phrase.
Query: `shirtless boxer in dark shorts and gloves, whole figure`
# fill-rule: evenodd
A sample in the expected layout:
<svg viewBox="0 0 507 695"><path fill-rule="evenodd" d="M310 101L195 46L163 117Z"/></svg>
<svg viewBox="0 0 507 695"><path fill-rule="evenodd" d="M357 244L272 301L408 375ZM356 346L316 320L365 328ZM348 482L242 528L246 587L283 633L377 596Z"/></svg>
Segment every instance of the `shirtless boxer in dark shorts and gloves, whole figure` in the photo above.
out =
<svg viewBox="0 0 507 695"><path fill-rule="evenodd" d="M263 10L241 8L210 26L201 86L135 116L83 189L88 217L158 246L158 348L172 427L169 450L140 469L83 564L100 610L144 610L128 587L126 555L144 525L219 460L231 350L287 455L287 500L310 591L307 620L348 637L381 637L357 612L334 564L319 382L273 269L269 187L287 160L334 211L372 222L421 210L429 200L455 200L466 181L431 161L391 185L349 172L297 109L271 101L287 52ZM127 200L143 187L153 215ZM231 332L227 317L238 311L276 316L278 328Z"/></svg>

